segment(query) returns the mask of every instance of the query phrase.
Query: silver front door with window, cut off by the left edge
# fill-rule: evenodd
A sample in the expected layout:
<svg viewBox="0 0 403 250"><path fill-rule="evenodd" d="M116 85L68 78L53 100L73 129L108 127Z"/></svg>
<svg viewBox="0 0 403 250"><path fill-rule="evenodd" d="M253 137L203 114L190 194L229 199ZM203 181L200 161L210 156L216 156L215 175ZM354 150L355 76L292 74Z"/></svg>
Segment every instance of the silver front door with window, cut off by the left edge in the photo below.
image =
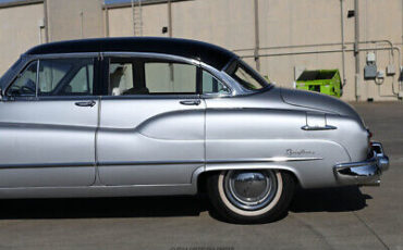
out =
<svg viewBox="0 0 403 250"><path fill-rule="evenodd" d="M0 188L95 182L96 59L39 59L0 102Z"/></svg>

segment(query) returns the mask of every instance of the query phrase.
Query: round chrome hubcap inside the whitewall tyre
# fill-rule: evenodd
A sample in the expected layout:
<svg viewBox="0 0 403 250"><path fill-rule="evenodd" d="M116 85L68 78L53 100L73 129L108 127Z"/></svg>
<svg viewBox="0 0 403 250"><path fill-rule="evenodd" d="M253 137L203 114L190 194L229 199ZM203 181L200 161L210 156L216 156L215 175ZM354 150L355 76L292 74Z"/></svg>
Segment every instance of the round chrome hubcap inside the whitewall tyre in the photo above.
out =
<svg viewBox="0 0 403 250"><path fill-rule="evenodd" d="M273 199L277 178L272 171L229 171L223 186L232 204L254 211L266 207Z"/></svg>

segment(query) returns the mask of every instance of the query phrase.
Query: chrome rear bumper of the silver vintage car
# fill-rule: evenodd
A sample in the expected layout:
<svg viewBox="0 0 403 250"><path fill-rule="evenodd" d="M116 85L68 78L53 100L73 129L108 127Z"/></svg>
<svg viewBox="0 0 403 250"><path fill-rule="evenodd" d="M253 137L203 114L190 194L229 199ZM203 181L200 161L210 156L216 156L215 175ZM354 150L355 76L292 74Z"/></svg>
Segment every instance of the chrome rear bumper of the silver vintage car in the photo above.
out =
<svg viewBox="0 0 403 250"><path fill-rule="evenodd" d="M378 186L380 175L389 168L389 158L384 154L382 145L371 143L371 155L362 162L337 164L334 175L341 185Z"/></svg>

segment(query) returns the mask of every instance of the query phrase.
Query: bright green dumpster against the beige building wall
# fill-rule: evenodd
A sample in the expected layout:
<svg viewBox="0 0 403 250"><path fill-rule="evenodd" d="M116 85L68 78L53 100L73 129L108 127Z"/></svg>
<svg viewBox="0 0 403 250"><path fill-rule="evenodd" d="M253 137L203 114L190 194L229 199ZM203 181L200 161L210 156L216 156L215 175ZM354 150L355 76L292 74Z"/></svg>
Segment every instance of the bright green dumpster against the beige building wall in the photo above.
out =
<svg viewBox="0 0 403 250"><path fill-rule="evenodd" d="M339 70L304 71L296 79L296 88L341 97Z"/></svg>

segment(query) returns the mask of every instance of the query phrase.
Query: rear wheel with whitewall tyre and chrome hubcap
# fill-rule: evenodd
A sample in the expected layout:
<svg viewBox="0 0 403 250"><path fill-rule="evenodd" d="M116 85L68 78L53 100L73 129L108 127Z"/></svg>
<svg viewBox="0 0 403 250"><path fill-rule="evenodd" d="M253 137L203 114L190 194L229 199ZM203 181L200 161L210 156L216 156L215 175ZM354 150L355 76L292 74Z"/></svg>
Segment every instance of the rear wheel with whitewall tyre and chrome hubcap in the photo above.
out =
<svg viewBox="0 0 403 250"><path fill-rule="evenodd" d="M289 173L276 170L222 171L207 182L216 211L234 223L278 220L288 211L294 186Z"/></svg>

